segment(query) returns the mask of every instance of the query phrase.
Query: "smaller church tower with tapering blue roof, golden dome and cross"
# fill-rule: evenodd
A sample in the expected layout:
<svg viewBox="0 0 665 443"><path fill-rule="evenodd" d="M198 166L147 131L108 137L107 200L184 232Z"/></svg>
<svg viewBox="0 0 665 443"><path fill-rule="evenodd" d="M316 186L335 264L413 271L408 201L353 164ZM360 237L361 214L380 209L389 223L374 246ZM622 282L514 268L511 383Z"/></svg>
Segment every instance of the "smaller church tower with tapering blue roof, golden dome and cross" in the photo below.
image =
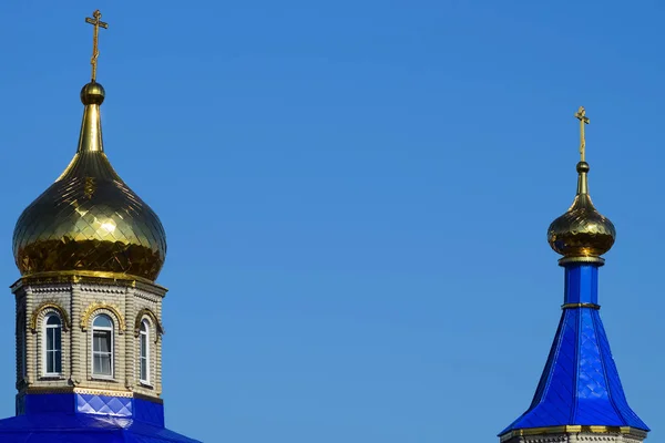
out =
<svg viewBox="0 0 665 443"><path fill-rule="evenodd" d="M500 434L501 443L642 442L649 429L628 406L598 313L598 268L616 233L589 196L584 107L580 120L577 195L548 230L562 255L563 313L531 405Z"/></svg>

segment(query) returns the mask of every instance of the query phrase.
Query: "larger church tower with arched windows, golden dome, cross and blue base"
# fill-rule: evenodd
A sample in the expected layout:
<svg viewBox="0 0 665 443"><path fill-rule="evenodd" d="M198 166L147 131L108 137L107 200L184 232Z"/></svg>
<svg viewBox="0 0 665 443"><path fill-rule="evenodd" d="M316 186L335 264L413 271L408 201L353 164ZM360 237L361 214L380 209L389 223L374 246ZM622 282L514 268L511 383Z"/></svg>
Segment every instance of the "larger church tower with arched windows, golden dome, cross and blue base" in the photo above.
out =
<svg viewBox="0 0 665 443"><path fill-rule="evenodd" d="M99 11L85 21L92 80L75 154L13 233L17 416L0 421L0 441L195 442L164 429L166 235L106 157L96 62L108 24Z"/></svg>

